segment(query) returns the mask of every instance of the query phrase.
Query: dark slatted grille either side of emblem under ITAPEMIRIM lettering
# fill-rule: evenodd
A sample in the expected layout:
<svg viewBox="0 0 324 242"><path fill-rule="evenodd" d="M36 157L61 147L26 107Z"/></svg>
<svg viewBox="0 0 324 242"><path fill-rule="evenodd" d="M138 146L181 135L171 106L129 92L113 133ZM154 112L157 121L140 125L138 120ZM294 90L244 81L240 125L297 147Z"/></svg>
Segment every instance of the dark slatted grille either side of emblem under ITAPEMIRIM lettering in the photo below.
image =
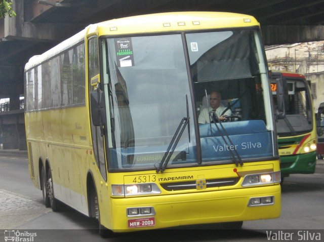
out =
<svg viewBox="0 0 324 242"><path fill-rule="evenodd" d="M206 180L206 188L221 187L221 186L233 186L239 181L239 179L240 179L239 177L222 178L222 179L207 179ZM196 180L186 181L186 182L161 183L160 185L167 191L197 189L196 188L196 186L197 186Z"/></svg>

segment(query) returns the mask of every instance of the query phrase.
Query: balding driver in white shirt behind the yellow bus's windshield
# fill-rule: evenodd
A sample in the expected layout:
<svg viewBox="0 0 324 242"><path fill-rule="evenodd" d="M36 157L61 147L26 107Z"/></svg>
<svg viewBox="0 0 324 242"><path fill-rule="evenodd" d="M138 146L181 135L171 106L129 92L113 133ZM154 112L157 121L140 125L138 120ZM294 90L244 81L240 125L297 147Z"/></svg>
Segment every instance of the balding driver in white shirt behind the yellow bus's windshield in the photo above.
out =
<svg viewBox="0 0 324 242"><path fill-rule="evenodd" d="M221 94L216 91L211 92L210 107L204 108L203 110L201 110L199 117L198 117L198 123L199 124L209 124L210 122L213 122L212 118L209 115L210 111L213 111L213 116L215 119L216 119L216 116L218 116L218 119L221 120L222 122L226 121L227 120L226 116L230 116L232 114L232 111L230 109L228 109L222 115L222 113L225 109L226 109L226 107L221 104Z"/></svg>

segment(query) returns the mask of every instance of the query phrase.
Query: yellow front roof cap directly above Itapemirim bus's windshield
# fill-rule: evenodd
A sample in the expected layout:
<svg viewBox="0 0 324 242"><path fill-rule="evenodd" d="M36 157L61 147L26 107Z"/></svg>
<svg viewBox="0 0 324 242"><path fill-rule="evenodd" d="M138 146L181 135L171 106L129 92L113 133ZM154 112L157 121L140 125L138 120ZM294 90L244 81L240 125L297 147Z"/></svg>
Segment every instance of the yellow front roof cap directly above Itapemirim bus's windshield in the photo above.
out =
<svg viewBox="0 0 324 242"><path fill-rule="evenodd" d="M171 12L108 20L90 25L89 32L96 32L103 29L106 34L118 35L251 26L259 26L259 23L254 17L245 14L225 12Z"/></svg>

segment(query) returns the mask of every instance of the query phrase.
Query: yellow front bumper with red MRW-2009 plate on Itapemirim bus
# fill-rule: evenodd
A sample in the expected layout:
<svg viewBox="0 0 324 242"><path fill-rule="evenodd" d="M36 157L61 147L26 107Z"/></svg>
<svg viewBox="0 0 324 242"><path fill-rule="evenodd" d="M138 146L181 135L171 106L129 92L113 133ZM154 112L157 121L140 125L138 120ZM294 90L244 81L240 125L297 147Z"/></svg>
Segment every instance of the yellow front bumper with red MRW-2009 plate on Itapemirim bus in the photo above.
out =
<svg viewBox="0 0 324 242"><path fill-rule="evenodd" d="M273 197L273 203L249 205L255 197ZM183 225L278 218L281 211L280 185L230 190L113 198L111 230L126 232ZM147 208L154 215L128 216L129 208ZM103 224L105 226L105 224Z"/></svg>

